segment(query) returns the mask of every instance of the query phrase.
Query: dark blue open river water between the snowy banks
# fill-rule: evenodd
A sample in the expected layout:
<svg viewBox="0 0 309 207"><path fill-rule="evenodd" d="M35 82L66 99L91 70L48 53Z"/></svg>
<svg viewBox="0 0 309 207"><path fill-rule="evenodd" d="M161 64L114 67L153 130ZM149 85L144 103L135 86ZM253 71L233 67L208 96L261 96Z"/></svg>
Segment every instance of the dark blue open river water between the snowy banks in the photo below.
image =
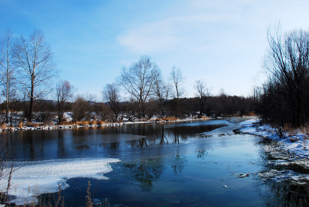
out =
<svg viewBox="0 0 309 207"><path fill-rule="evenodd" d="M269 159L262 138L235 133L245 120L11 132L9 155L17 161L121 160L110 164L108 180L67 180L67 206L85 206L89 180L95 202L107 198L111 206L306 206L306 186L233 176L265 170Z"/></svg>

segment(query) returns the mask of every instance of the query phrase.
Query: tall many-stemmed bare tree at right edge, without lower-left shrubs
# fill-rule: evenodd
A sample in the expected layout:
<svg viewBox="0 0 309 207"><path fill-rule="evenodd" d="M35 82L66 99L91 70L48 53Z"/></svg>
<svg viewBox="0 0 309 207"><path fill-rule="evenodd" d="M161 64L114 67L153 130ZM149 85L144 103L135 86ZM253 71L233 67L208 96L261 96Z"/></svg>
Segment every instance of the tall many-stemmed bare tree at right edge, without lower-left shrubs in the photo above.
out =
<svg viewBox="0 0 309 207"><path fill-rule="evenodd" d="M263 63L271 81L266 85L271 83L272 91L285 100L290 117L286 123L299 127L309 117L309 32L299 29L282 34L279 23L268 28L267 40Z"/></svg>

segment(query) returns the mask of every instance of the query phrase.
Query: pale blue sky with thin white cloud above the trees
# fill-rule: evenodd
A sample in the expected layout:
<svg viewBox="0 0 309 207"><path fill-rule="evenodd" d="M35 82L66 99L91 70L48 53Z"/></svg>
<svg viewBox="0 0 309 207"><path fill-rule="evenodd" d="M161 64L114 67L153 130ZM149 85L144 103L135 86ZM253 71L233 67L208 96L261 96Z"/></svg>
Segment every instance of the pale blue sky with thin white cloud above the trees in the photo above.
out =
<svg viewBox="0 0 309 207"><path fill-rule="evenodd" d="M280 21L284 31L309 28L309 1L22 1L0 0L0 33L10 27L28 37L41 29L55 53L59 77L78 93L101 96L107 83L148 55L168 76L179 67L186 97L203 79L247 96L261 70L266 32ZM263 81L263 77L260 78Z"/></svg>

